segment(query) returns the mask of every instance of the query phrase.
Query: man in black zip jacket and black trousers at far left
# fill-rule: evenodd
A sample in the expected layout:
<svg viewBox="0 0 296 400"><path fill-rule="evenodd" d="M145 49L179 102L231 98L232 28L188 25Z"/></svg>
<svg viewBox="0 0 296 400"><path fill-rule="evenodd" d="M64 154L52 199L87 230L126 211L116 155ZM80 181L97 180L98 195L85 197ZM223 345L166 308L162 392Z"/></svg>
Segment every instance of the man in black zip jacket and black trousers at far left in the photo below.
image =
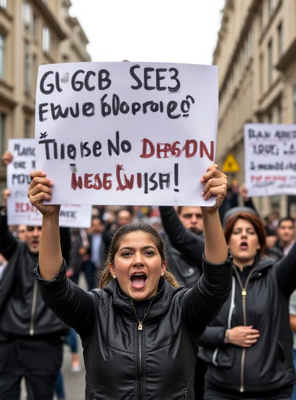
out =
<svg viewBox="0 0 296 400"><path fill-rule="evenodd" d="M34 399L52 400L61 366L68 328L37 289L40 236L40 226L27 226L24 242L19 241L8 229L6 207L0 208L0 253L8 261L0 282L1 400L19 400L23 376Z"/></svg>

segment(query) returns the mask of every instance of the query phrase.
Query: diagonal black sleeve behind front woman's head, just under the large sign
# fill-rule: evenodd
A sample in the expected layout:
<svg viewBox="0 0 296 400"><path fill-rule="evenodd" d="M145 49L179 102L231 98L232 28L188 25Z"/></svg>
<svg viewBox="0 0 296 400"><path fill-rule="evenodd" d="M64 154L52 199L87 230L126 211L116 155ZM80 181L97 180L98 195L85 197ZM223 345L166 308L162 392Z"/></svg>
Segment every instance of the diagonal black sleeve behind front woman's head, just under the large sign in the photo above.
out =
<svg viewBox="0 0 296 400"><path fill-rule="evenodd" d="M159 206L159 211L171 245L182 253L188 263L202 269L204 240L183 226L172 206Z"/></svg>

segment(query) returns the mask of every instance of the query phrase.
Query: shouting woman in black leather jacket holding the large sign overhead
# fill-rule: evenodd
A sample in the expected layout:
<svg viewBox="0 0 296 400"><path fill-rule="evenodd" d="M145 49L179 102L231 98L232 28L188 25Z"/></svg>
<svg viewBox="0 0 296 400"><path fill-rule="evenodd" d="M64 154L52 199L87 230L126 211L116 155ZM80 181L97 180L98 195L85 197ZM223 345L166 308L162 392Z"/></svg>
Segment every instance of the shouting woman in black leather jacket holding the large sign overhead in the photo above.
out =
<svg viewBox="0 0 296 400"><path fill-rule="evenodd" d="M43 214L37 280L43 301L80 335L86 369L85 399L194 399L198 336L219 313L231 287L232 263L218 208L226 176L216 165L201 178L205 251L203 275L192 289L179 287L166 269L163 242L145 223L115 233L100 289L85 292L66 277L53 183L31 173L28 196ZM53 186L54 187L54 186Z"/></svg>

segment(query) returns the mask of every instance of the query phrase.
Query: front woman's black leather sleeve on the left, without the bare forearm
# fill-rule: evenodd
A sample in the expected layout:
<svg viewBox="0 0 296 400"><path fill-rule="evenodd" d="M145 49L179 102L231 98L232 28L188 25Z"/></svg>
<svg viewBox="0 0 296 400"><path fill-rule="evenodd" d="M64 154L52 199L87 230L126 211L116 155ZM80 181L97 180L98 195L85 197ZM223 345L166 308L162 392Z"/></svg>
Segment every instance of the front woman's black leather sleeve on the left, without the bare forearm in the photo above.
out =
<svg viewBox="0 0 296 400"><path fill-rule="evenodd" d="M39 264L36 279L43 302L66 325L81 336L90 335L98 308L98 299L93 292L86 292L66 277L66 264L51 280L40 276Z"/></svg>

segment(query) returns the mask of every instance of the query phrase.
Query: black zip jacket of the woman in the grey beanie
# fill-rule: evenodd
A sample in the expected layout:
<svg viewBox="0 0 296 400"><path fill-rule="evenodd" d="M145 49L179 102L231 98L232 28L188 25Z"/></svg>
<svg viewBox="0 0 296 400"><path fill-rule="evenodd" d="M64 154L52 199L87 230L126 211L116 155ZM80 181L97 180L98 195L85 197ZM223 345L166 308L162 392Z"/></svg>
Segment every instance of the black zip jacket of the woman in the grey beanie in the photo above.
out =
<svg viewBox="0 0 296 400"><path fill-rule="evenodd" d="M263 257L236 272L233 269L229 299L199 340L204 347L198 357L210 362L206 385L248 398L291 392L294 368L288 301L296 286L296 244L276 263ZM246 290L245 300L237 274ZM224 344L226 328L238 325L258 329L258 341L249 348Z"/></svg>

